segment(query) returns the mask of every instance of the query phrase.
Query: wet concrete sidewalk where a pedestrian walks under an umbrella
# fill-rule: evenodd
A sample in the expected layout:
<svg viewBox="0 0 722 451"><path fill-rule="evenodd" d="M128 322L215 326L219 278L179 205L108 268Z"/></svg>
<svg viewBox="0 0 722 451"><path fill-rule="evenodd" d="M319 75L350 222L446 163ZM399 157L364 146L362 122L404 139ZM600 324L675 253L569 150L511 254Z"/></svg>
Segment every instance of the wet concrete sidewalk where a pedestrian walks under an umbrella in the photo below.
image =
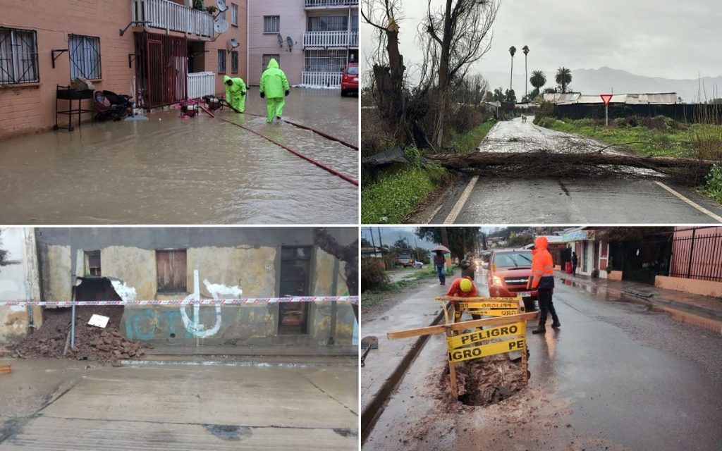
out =
<svg viewBox="0 0 722 451"><path fill-rule="evenodd" d="M375 316L363 315L361 318L361 337L378 337L378 349L372 349L365 359L365 367L360 368L361 380L361 429L373 424L373 417L383 405L403 375L404 369L423 346L427 337L415 337L389 341L386 333L393 330L421 328L443 320L443 303L434 297L446 294L453 279L446 276L446 285L440 285L438 279L425 279L419 287L399 297L404 301ZM363 298L362 298L363 299ZM362 300L363 302L363 300Z"/></svg>

